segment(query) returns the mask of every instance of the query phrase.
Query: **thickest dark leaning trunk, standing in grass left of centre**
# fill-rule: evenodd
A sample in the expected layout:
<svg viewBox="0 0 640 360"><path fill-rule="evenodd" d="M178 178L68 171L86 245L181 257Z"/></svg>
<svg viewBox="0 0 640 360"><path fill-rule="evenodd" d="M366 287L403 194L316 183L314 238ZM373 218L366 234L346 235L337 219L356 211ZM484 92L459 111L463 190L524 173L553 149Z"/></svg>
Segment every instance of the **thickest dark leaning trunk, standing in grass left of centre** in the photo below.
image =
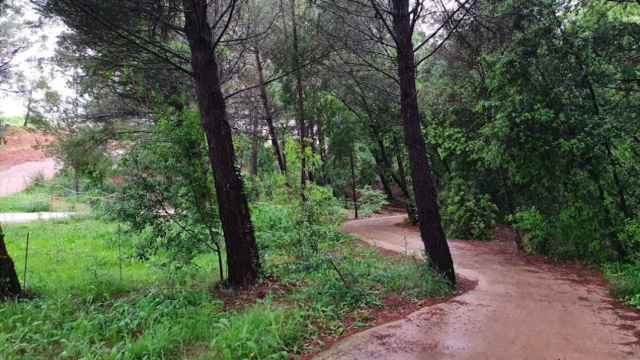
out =
<svg viewBox="0 0 640 360"><path fill-rule="evenodd" d="M249 205L235 164L231 126L220 88L213 35L207 20L207 0L183 0L183 6L193 81L224 232L229 285L248 286L258 278L260 260Z"/></svg>

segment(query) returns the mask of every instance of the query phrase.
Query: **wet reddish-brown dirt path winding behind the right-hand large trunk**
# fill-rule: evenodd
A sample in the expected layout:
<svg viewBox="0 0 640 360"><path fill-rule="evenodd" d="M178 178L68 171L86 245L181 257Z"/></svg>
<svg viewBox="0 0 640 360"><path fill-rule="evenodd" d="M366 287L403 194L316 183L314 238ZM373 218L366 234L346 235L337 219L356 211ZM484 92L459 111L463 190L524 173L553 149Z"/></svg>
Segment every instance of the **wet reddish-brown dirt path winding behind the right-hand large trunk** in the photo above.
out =
<svg viewBox="0 0 640 360"><path fill-rule="evenodd" d="M379 247L420 252L404 216L351 221ZM640 359L640 313L619 306L602 279L576 266L514 255L511 244L450 241L475 289L338 342L316 359Z"/></svg>

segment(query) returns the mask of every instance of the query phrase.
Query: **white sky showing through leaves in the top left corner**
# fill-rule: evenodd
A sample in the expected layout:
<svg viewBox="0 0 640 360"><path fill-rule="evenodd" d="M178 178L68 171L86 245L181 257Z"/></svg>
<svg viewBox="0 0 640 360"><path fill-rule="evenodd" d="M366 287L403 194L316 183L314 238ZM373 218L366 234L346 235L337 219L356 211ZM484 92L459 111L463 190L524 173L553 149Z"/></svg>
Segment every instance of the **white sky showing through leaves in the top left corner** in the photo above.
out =
<svg viewBox="0 0 640 360"><path fill-rule="evenodd" d="M11 0L9 0L11 1ZM14 4L24 9L22 19L24 21L35 21L38 14L33 9L31 3L26 0L14 0ZM19 21L22 22L22 21ZM30 47L21 51L12 62L12 69L22 72L30 81L35 81L42 75L47 78L49 86L63 95L69 95L71 90L66 85L66 78L59 72L51 72L51 66L45 65L45 71L39 69L32 60L46 60L54 55L58 36L64 30L64 25L47 21L41 28L33 30L22 28L19 36L29 39ZM46 61L45 61L46 63ZM15 77L14 77L15 80ZM13 93L0 94L0 115L1 116L24 116L26 113L26 99Z"/></svg>

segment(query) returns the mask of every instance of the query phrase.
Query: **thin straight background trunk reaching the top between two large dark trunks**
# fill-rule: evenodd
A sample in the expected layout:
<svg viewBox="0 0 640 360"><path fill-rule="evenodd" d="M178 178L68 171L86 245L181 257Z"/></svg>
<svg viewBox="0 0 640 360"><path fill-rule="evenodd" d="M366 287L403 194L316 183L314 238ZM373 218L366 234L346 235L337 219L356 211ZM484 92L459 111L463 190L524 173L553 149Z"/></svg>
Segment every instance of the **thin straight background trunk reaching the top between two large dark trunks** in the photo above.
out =
<svg viewBox="0 0 640 360"><path fill-rule="evenodd" d="M296 0L289 1L291 11L291 35L293 45L293 68L296 78L296 121L300 131L300 196L306 201L304 194L307 186L307 127L304 120L304 88L302 86L302 69L300 68L300 47L298 44L298 24L296 19Z"/></svg>

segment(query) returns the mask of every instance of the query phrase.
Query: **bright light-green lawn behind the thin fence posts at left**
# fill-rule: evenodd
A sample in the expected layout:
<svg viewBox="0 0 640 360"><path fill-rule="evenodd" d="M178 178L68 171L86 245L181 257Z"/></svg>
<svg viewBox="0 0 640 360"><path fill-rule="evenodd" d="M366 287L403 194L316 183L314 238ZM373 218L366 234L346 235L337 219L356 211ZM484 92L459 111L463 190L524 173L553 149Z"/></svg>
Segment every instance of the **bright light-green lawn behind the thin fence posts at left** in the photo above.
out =
<svg viewBox="0 0 640 360"><path fill-rule="evenodd" d="M151 269L129 256L128 247L119 256L116 224L84 219L4 228L9 253L20 272L30 234L28 290L38 296L109 297L155 280ZM121 240L127 241L124 235ZM120 265L126 282L119 281Z"/></svg>

